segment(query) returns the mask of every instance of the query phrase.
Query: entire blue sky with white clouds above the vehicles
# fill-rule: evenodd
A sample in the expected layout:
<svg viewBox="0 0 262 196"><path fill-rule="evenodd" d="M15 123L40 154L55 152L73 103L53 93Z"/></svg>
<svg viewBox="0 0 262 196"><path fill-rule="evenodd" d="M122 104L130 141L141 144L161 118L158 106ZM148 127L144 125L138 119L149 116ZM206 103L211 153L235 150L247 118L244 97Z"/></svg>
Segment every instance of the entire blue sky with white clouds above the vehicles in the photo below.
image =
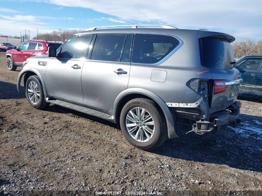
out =
<svg viewBox="0 0 262 196"><path fill-rule="evenodd" d="M30 37L62 29L120 24L170 24L262 39L262 1L0 0L0 34ZM3 28L4 27L4 28Z"/></svg>

